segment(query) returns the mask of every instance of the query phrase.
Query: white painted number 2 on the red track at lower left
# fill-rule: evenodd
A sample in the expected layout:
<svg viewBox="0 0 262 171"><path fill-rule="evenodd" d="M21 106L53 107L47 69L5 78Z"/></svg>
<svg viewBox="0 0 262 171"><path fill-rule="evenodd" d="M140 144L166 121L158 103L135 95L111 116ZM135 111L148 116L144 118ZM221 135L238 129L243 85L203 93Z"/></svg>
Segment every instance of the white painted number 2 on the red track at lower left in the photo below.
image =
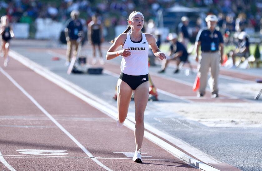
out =
<svg viewBox="0 0 262 171"><path fill-rule="evenodd" d="M21 151L21 154L27 155L68 155L68 153L63 153L66 150L36 150L36 149L23 149L17 150Z"/></svg>

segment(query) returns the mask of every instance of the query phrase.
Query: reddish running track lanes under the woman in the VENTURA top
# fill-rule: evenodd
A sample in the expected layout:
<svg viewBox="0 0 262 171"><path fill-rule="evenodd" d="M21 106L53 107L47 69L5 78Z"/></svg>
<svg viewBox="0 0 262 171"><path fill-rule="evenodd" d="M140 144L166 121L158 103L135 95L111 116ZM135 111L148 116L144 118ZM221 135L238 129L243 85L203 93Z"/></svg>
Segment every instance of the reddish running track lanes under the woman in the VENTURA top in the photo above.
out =
<svg viewBox="0 0 262 171"><path fill-rule="evenodd" d="M2 64L0 59L4 68ZM0 151L15 170L198 170L148 139L142 147L142 155L148 157L143 164L134 163L133 131L117 128L114 119L13 59L4 72L95 157L91 159L0 72ZM0 170L8 170L2 162Z"/></svg>

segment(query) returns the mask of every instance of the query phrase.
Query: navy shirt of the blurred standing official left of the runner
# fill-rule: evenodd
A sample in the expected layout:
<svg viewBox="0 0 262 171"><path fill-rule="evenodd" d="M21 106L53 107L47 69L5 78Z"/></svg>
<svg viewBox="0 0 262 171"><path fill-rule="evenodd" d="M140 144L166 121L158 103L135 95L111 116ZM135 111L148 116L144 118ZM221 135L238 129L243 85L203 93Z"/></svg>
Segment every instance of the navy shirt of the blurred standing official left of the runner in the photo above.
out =
<svg viewBox="0 0 262 171"><path fill-rule="evenodd" d="M69 19L66 24L66 28L68 28L69 38L72 40L78 39L80 36L78 33L83 30L83 26L80 20L72 20Z"/></svg>

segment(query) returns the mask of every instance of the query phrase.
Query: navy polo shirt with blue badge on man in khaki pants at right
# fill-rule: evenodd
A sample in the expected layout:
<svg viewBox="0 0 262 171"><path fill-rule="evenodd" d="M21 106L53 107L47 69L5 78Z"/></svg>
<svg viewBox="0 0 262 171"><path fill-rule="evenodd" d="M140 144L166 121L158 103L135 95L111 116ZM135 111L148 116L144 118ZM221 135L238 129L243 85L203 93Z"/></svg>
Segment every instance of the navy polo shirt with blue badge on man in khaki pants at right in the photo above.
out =
<svg viewBox="0 0 262 171"><path fill-rule="evenodd" d="M214 31L213 36L211 31L207 28L200 30L196 36L196 41L201 42L201 51L211 51L211 43L215 43L216 49L214 51L219 50L219 44L224 43L223 36L217 30Z"/></svg>

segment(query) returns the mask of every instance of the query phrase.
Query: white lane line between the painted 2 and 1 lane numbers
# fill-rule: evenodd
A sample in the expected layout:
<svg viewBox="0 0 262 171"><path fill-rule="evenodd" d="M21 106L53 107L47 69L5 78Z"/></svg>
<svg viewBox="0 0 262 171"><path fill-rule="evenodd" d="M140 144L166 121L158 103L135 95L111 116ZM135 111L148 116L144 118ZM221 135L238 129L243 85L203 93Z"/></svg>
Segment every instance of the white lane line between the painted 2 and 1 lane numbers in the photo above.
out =
<svg viewBox="0 0 262 171"><path fill-rule="evenodd" d="M72 141L75 142L75 144L77 146L79 146L86 155L88 155L89 157L92 158L92 160L95 161L95 163L99 164L99 166L101 166L102 168L106 169L106 170L110 170L108 167L106 167L104 164L102 164L99 160L95 159L94 156L79 142L75 139L74 136L72 136L60 123L58 123L56 121L55 118L53 118L31 95L29 95L27 93L26 90L24 90L21 85L19 85L7 72L5 72L2 67L0 67L0 72L2 72L2 74L4 74L20 91L22 91L22 93L24 95L27 96L28 99L30 99L52 122L54 122L56 124L57 127L59 127L61 129L61 131L63 131Z"/></svg>

